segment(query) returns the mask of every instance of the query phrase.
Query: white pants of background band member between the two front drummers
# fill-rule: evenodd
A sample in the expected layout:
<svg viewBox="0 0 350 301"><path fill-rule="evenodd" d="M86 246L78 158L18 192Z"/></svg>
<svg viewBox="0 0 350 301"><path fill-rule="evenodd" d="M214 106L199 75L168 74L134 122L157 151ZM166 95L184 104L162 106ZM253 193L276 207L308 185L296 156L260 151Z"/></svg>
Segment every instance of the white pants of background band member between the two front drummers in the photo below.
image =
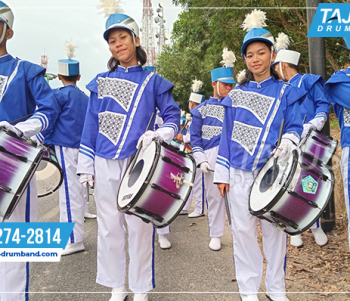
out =
<svg viewBox="0 0 350 301"><path fill-rule="evenodd" d="M205 155L211 168L215 167L219 147L205 150ZM225 201L214 182L214 173L204 174L204 185L208 204L209 236L221 237L225 229Z"/></svg>

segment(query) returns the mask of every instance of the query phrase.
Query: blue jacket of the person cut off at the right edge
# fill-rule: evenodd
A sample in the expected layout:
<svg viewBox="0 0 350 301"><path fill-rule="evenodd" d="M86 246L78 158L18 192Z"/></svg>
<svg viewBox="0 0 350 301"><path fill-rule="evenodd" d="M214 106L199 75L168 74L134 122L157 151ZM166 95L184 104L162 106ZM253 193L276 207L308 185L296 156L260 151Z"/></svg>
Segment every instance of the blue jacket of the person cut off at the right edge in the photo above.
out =
<svg viewBox="0 0 350 301"><path fill-rule="evenodd" d="M338 117L341 146L350 146L350 68L331 76L326 82L325 94Z"/></svg>

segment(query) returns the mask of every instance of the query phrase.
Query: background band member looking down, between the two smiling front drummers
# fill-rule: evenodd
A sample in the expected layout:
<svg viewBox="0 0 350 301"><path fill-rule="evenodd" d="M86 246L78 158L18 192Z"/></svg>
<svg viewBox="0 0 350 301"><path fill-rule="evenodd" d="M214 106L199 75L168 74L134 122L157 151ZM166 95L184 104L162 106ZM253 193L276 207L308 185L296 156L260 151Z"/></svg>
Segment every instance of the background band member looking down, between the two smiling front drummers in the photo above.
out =
<svg viewBox="0 0 350 301"><path fill-rule="evenodd" d="M191 110L191 147L197 166L204 173L208 203L209 248L221 249L221 236L225 229L225 202L213 184L216 157L218 154L224 107L221 101L233 87L233 63L235 55L227 48L223 51L224 67L211 71L213 97Z"/></svg>

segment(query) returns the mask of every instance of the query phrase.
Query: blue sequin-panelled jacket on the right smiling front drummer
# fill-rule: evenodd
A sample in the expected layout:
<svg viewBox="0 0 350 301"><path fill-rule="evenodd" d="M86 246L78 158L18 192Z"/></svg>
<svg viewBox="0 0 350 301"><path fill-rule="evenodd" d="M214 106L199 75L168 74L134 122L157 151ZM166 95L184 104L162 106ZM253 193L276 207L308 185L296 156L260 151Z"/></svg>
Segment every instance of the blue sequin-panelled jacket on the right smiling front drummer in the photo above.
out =
<svg viewBox="0 0 350 301"><path fill-rule="evenodd" d="M283 138L299 143L300 104L305 91L270 77L235 87L222 101L225 118L215 166L215 183L230 183L230 167L260 169L271 156L281 121Z"/></svg>

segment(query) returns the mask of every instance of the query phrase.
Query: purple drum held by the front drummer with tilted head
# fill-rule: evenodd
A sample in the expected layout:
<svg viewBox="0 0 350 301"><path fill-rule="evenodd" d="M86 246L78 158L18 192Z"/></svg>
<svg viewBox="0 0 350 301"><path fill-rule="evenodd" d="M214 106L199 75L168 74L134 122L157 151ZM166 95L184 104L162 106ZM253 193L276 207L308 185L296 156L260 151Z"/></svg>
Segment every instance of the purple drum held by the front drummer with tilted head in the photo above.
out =
<svg viewBox="0 0 350 301"><path fill-rule="evenodd" d="M134 160L134 167L128 167L120 185L118 210L137 215L157 228L165 227L186 204L196 163L191 156L156 141Z"/></svg>

